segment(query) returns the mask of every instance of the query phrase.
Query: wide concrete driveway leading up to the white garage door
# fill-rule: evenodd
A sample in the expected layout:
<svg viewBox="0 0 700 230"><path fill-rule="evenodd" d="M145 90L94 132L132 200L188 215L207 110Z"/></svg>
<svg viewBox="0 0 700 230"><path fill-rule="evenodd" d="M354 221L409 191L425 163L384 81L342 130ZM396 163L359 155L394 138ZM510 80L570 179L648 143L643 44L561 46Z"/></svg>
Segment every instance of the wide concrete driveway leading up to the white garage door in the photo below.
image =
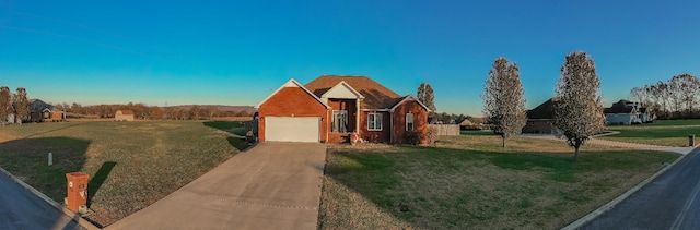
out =
<svg viewBox="0 0 700 230"><path fill-rule="evenodd" d="M260 143L107 229L316 229L325 158L323 144Z"/></svg>

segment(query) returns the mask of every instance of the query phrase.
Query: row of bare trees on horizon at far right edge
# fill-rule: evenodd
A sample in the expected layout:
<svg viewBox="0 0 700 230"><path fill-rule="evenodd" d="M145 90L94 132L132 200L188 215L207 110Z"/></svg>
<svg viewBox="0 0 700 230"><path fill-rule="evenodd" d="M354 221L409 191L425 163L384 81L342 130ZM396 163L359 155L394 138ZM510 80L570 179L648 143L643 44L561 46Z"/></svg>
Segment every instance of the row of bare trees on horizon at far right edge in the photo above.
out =
<svg viewBox="0 0 700 230"><path fill-rule="evenodd" d="M651 109L658 119L698 119L700 80L688 73L675 75L666 82L634 87L630 99Z"/></svg>

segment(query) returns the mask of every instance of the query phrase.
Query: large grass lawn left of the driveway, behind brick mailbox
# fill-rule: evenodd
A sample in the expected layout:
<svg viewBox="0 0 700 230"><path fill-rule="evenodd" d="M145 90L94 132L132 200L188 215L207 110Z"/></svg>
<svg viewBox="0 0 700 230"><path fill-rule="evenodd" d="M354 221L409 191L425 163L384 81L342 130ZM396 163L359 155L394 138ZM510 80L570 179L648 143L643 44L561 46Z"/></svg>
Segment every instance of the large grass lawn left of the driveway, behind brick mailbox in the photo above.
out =
<svg viewBox="0 0 700 230"><path fill-rule="evenodd" d="M234 156L231 138L237 137L194 121L8 125L0 126L0 167L58 203L67 172L89 173L88 218L108 226Z"/></svg>

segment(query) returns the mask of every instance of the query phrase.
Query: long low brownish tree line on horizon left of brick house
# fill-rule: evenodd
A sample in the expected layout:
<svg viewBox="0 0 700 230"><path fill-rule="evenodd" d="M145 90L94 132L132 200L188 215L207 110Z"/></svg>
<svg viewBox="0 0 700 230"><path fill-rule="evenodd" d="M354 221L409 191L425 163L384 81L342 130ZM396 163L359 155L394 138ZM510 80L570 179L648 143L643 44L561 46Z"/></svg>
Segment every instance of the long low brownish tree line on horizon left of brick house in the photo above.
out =
<svg viewBox="0 0 700 230"><path fill-rule="evenodd" d="M253 116L247 110L238 111L221 111L217 106L199 106L192 105L188 108L184 106L147 106L145 104L129 102L113 104L113 105L93 105L82 106L78 102L73 102L70 106L66 102L57 104L57 109L60 109L73 118L114 118L117 110L131 110L133 111L135 119L141 120L212 120L215 118L225 117L250 117Z"/></svg>

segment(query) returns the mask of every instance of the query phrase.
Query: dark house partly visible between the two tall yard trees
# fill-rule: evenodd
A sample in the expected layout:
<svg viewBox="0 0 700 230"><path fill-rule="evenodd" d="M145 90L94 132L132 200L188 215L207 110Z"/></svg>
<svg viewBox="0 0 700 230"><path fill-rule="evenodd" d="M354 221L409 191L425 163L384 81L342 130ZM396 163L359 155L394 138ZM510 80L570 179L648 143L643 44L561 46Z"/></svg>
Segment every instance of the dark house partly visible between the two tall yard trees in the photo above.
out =
<svg viewBox="0 0 700 230"><path fill-rule="evenodd" d="M534 109L527 110L527 122L523 126L523 133L553 134L558 132L555 126L555 104L557 98L550 98Z"/></svg>

